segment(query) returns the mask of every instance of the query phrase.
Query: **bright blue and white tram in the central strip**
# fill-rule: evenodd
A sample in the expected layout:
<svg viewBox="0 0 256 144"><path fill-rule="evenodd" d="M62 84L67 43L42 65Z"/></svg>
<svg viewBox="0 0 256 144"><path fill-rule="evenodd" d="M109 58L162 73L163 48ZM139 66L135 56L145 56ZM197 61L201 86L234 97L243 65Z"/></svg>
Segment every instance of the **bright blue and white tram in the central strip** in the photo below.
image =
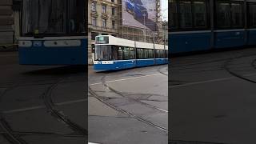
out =
<svg viewBox="0 0 256 144"><path fill-rule="evenodd" d="M168 46L101 35L96 37L94 70L122 70L166 64L167 53Z"/></svg>

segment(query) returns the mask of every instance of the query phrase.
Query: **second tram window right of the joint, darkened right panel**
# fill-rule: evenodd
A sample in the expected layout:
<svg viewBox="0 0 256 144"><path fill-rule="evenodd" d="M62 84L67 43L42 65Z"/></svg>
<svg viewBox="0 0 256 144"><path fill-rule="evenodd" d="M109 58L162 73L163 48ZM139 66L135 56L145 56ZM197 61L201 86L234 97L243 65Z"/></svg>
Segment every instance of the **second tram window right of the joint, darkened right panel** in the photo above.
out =
<svg viewBox="0 0 256 144"><path fill-rule="evenodd" d="M232 26L241 27L243 26L243 14L242 14L242 4L232 3L231 4L231 20Z"/></svg>

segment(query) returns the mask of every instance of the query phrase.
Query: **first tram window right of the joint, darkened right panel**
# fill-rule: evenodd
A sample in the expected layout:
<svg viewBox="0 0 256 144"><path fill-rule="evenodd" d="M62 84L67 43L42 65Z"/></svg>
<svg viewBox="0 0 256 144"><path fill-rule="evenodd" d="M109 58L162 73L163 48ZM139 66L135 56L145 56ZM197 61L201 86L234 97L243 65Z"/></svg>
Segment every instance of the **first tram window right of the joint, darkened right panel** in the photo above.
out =
<svg viewBox="0 0 256 144"><path fill-rule="evenodd" d="M230 27L230 3L218 2L217 10L217 26L219 28Z"/></svg>

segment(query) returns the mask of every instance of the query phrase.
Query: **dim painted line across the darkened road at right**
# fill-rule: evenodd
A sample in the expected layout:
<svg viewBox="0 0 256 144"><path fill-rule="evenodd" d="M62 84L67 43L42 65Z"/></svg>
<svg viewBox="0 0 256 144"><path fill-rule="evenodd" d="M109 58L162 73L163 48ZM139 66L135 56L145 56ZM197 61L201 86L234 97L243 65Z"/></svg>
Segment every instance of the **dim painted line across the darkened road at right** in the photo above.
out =
<svg viewBox="0 0 256 144"><path fill-rule="evenodd" d="M256 74L244 74L242 76L254 76ZM207 81L201 81L201 82L190 82L190 83L186 83L186 84L182 84L182 85L175 85L175 86L170 86L170 88L178 88L178 87L183 87L183 86L193 86L193 85L198 85L198 84L203 84L203 83L210 83L210 82L221 82L221 81L226 81L226 80L230 80L230 79L234 79L237 77L227 77L227 78L217 78L217 79L211 79L211 80L207 80Z"/></svg>

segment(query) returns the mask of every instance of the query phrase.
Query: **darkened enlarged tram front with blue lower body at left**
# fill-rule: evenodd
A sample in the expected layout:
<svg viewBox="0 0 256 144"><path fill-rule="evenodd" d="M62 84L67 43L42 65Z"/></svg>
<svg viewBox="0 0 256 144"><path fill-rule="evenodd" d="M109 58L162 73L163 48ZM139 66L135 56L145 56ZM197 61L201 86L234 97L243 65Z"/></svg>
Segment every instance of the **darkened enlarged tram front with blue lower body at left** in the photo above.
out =
<svg viewBox="0 0 256 144"><path fill-rule="evenodd" d="M22 65L87 64L86 0L22 0Z"/></svg>

